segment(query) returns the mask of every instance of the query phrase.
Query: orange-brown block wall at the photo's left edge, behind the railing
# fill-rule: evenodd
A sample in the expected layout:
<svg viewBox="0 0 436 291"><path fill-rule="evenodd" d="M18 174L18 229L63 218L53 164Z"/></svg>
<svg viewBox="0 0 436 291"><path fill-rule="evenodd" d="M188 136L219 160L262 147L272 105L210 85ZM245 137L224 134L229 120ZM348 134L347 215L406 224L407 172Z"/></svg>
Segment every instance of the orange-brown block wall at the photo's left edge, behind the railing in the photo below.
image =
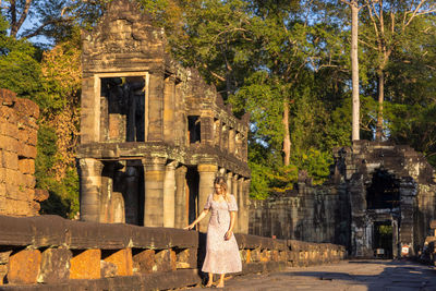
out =
<svg viewBox="0 0 436 291"><path fill-rule="evenodd" d="M35 190L39 108L0 89L0 214L35 216L45 192Z"/></svg>

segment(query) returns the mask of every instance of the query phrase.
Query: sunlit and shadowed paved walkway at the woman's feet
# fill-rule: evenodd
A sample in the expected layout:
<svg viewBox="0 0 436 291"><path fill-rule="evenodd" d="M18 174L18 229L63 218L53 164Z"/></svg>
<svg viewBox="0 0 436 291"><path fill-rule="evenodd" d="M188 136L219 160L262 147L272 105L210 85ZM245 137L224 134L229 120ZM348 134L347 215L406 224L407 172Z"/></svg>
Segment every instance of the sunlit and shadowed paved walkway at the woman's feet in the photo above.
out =
<svg viewBox="0 0 436 291"><path fill-rule="evenodd" d="M197 287L184 290L208 289ZM436 269L403 260L346 260L307 268L290 267L282 272L237 276L226 280L223 290L436 291Z"/></svg>

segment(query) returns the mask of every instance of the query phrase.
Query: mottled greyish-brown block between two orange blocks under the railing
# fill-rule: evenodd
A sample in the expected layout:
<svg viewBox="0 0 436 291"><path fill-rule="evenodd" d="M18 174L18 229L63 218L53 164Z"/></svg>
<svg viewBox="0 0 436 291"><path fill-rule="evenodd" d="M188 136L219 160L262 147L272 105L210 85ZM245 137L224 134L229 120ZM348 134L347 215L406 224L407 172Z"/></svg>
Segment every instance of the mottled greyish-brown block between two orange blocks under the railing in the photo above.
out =
<svg viewBox="0 0 436 291"><path fill-rule="evenodd" d="M57 283L70 279L70 260L73 254L66 248L47 248L43 252L38 282Z"/></svg>

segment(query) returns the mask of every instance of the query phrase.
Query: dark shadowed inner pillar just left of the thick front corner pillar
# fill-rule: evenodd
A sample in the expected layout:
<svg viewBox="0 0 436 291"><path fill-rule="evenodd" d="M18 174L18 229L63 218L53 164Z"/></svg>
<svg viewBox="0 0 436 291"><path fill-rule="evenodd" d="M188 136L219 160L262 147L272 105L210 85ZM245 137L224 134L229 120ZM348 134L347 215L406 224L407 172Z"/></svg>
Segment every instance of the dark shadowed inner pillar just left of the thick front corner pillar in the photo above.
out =
<svg viewBox="0 0 436 291"><path fill-rule="evenodd" d="M128 166L125 169L125 222L138 225L138 171L136 167Z"/></svg>

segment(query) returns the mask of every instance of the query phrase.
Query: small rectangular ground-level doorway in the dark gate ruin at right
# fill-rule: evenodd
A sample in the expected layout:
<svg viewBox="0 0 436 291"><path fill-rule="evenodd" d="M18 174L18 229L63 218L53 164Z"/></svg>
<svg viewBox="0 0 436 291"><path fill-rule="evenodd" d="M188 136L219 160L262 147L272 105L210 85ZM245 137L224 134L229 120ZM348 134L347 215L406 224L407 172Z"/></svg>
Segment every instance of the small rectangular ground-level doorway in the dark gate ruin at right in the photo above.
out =
<svg viewBox="0 0 436 291"><path fill-rule="evenodd" d="M392 221L374 222L373 250L376 257L392 258Z"/></svg>

